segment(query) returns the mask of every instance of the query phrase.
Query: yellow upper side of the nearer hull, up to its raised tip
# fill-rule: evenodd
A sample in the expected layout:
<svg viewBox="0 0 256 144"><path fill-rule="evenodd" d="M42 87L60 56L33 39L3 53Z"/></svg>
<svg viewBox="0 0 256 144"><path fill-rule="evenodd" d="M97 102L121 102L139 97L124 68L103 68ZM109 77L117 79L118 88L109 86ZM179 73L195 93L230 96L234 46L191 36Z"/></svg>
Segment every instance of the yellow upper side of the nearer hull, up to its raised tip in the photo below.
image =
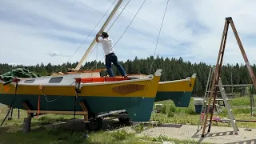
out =
<svg viewBox="0 0 256 144"><path fill-rule="evenodd" d="M160 76L154 75L154 78L146 79L135 79L126 80L120 82L94 82L94 83L82 83L81 84L81 96L93 96L93 97L146 97L154 98L156 90L158 89L158 82ZM142 86L142 90L136 90L132 93L122 94L114 91L114 87L124 86L124 85L139 85ZM69 86L70 83L66 85L41 85L36 84L19 84L16 94L26 94L26 95L61 95L70 96L75 95L74 85ZM42 88L40 88L40 86ZM117 89L117 88L116 88ZM125 89L129 89L126 87ZM123 89L123 90L125 90ZM0 83L0 94L14 94L15 93L15 83L3 86L3 82Z"/></svg>

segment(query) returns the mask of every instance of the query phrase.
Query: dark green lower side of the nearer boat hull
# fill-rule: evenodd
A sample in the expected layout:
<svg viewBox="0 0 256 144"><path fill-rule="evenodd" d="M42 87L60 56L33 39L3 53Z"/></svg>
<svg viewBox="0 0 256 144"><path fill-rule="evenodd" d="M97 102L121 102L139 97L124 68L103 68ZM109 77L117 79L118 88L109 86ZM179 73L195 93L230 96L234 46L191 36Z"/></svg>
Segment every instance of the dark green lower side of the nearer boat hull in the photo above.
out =
<svg viewBox="0 0 256 144"><path fill-rule="evenodd" d="M46 102L46 98L48 102ZM14 99L14 94L0 94L0 102L7 106ZM16 95L14 108L25 110L22 102L28 100L32 110L38 110L38 95ZM109 112L124 109L128 112L130 120L134 122L148 122L150 120L154 98L124 98L124 97L78 97L77 101L86 102L91 113ZM82 107L76 102L76 110ZM40 96L40 110L74 111L74 96Z"/></svg>

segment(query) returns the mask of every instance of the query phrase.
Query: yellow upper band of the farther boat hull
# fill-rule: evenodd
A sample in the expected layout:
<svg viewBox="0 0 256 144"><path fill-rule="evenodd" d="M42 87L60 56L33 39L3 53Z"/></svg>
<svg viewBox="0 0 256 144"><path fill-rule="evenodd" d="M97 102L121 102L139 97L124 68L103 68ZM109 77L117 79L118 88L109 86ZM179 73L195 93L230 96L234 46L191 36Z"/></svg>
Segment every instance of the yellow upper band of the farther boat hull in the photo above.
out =
<svg viewBox="0 0 256 144"><path fill-rule="evenodd" d="M170 83L161 83L159 82L158 85L158 92L160 91L170 91L170 92L175 92L175 91L187 91L190 92L194 88L194 82L195 78L190 78L189 81L180 81L180 82L170 82ZM190 86L191 83L191 86Z"/></svg>

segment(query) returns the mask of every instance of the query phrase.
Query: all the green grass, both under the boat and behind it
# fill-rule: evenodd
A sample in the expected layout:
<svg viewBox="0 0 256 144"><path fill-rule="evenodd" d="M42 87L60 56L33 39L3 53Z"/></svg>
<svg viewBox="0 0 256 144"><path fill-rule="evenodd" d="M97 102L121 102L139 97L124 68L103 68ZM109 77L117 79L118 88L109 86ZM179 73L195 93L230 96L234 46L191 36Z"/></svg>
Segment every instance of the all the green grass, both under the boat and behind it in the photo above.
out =
<svg viewBox="0 0 256 144"><path fill-rule="evenodd" d="M199 114L195 114L193 99L190 101L190 106L186 108L179 108L174 106L172 101L156 102L162 103L163 109L161 114L152 114L152 120L158 120L161 123L177 123L177 124L190 124L198 125ZM234 98L230 100L230 105L234 110L234 117L240 120L256 120L256 117L250 115L250 98ZM228 118L226 109L222 109L221 114L214 116L219 116L220 118ZM55 144L77 144L77 143L113 143L113 144L144 144L151 142L162 142L161 138L166 141L172 141L175 143L198 143L194 141L181 141L173 138L166 138L162 136L161 138L150 138L136 136L136 133L128 133L126 130L115 130L115 131L99 131L90 132L88 138L83 138L86 134L85 131L75 130L74 134L70 139L58 140L58 138L69 137L72 129L66 129L62 126L48 126L54 122L66 121L73 118L72 115L56 115L56 114L46 114L39 116L38 118L32 118L31 122L31 132L28 134L22 133L22 123L23 118L26 117L26 111L21 110L21 117L18 120L18 110L14 110L13 119L6 120L4 125L0 128L0 143L55 143ZM6 107L0 107L0 120L6 116ZM77 116L76 118L82 118ZM229 123L213 122L213 126L230 126ZM238 122L238 127L250 127L256 128L256 122ZM134 128L135 132L139 133L143 130L143 126L136 126ZM141 141L144 140L144 141Z"/></svg>

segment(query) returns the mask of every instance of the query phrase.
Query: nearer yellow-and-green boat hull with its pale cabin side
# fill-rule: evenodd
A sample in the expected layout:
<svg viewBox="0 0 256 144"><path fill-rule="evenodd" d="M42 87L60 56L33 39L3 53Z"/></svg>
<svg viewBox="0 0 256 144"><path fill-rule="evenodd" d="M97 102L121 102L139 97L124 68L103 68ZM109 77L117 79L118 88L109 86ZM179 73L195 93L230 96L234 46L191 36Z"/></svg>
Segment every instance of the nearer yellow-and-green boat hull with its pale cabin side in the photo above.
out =
<svg viewBox="0 0 256 144"><path fill-rule="evenodd" d="M79 87L76 100L77 111L82 111L78 102L86 105L90 114L98 114L111 110L126 110L134 122L147 122L150 119L162 70L157 70L153 78L131 79L117 82L94 82L74 84L74 77L51 76L35 79L34 82L21 80L15 94L15 83L3 86L0 82L0 102L14 108L25 109L22 102L30 110L73 111L76 87ZM49 83L53 78L62 81ZM72 78L73 77L73 78ZM72 84L73 83L73 84ZM39 97L40 96L40 97ZM14 101L15 100L15 101Z"/></svg>

